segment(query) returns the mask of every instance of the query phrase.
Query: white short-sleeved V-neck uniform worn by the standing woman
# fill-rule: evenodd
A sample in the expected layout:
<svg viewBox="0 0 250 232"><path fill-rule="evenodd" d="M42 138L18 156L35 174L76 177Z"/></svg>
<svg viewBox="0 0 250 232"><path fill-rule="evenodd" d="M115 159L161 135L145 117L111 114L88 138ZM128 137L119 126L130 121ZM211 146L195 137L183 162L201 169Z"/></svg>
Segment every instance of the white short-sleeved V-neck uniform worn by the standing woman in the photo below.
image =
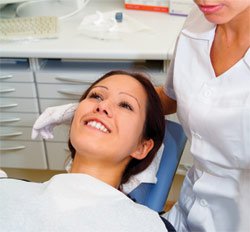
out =
<svg viewBox="0 0 250 232"><path fill-rule="evenodd" d="M194 158L166 216L178 232L250 231L250 49L216 77L215 29L197 8L191 12L165 84Z"/></svg>

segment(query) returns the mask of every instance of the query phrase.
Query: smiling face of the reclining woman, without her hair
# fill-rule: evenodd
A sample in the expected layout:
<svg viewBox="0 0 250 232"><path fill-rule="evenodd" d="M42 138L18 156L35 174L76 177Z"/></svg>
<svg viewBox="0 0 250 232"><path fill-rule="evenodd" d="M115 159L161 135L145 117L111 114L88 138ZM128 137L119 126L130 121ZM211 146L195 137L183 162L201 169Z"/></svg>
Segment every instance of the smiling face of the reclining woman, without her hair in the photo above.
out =
<svg viewBox="0 0 250 232"><path fill-rule="evenodd" d="M80 102L71 125L76 155L126 165L140 153L146 100L144 88L130 76L113 75L97 83Z"/></svg>

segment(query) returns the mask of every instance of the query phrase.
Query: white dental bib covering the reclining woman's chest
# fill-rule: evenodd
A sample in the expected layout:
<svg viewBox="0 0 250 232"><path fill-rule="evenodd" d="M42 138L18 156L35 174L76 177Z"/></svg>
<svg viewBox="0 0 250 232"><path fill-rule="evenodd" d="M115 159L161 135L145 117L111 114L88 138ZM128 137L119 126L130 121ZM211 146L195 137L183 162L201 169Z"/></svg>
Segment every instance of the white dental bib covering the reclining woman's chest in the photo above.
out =
<svg viewBox="0 0 250 232"><path fill-rule="evenodd" d="M158 214L85 174L0 179L1 231L166 231Z"/></svg>

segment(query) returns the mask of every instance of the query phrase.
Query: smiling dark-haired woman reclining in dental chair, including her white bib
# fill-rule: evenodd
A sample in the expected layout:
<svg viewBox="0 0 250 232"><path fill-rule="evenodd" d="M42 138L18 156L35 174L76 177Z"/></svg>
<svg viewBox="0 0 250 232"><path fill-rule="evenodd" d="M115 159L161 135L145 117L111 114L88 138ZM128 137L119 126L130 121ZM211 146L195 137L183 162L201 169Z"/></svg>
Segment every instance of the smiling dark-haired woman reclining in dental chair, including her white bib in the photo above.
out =
<svg viewBox="0 0 250 232"><path fill-rule="evenodd" d="M69 174L44 183L0 179L1 231L174 231L122 192L131 176L150 165L164 126L160 100L147 78L107 73L75 111Z"/></svg>

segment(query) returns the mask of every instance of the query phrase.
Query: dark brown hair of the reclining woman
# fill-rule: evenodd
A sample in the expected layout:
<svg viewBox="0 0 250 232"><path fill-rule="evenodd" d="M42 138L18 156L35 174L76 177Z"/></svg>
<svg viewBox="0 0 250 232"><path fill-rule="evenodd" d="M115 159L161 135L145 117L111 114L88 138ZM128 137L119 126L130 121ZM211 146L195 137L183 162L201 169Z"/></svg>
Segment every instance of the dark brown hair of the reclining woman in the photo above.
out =
<svg viewBox="0 0 250 232"><path fill-rule="evenodd" d="M141 83L143 88L145 89L147 95L147 103L146 103L146 117L144 128L142 132L142 140L152 139L154 141L154 146L148 155L142 159L138 160L133 158L123 173L121 184L124 184L128 181L128 179L135 174L140 173L144 169L146 169L150 163L152 162L154 156L156 155L158 149L160 148L165 132L165 119L162 109L162 104L158 94L150 82L148 77L145 74L137 73L137 72L128 72L123 70L115 70L104 74L101 78L96 80L82 95L79 102L84 100L89 92L92 90L93 86L95 86L100 81L113 76L113 75L127 75L131 76L132 78L136 79L138 82ZM70 139L68 141L68 146L71 152L71 157L74 159L75 157L75 148L72 146Z"/></svg>

